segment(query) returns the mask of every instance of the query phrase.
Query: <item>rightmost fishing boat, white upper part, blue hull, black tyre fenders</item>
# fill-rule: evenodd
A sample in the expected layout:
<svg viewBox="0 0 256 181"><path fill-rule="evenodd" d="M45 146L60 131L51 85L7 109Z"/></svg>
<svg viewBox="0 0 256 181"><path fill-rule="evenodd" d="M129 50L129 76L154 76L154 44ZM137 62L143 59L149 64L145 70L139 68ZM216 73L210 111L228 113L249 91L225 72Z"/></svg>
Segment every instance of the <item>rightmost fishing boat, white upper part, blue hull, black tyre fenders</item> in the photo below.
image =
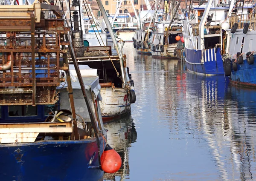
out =
<svg viewBox="0 0 256 181"><path fill-rule="evenodd" d="M227 47L223 55L225 75L230 82L241 86L256 86L255 13L244 7L245 14L230 17ZM250 12L247 14L247 12Z"/></svg>

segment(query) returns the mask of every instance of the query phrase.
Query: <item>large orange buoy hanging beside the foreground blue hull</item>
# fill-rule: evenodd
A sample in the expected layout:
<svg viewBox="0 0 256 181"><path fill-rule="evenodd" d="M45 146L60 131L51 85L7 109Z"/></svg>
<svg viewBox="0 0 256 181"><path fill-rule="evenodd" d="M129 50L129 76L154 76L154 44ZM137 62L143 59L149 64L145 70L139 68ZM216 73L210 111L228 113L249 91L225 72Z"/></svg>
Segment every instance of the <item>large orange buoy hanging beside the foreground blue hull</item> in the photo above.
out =
<svg viewBox="0 0 256 181"><path fill-rule="evenodd" d="M100 161L102 165L102 170L107 173L117 172L122 164L122 159L120 155L108 144L106 145L105 150L102 153Z"/></svg>

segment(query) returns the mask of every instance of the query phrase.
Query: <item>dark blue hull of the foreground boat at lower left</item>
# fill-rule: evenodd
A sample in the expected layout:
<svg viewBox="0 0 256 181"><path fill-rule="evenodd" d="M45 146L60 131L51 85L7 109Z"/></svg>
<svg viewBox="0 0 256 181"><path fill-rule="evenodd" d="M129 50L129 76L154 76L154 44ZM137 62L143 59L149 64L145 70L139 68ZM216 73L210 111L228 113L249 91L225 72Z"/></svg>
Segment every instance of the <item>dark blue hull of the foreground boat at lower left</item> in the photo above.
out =
<svg viewBox="0 0 256 181"><path fill-rule="evenodd" d="M101 153L103 138L100 138ZM96 138L80 141L38 141L24 144L0 144L2 181L101 181Z"/></svg>

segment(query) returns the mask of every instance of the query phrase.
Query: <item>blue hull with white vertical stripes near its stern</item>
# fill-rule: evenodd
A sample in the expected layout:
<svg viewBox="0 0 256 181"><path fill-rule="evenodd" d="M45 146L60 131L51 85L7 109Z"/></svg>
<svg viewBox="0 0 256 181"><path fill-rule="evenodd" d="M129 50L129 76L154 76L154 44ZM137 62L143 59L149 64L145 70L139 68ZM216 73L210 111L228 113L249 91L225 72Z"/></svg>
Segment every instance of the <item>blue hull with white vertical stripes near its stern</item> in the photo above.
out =
<svg viewBox="0 0 256 181"><path fill-rule="evenodd" d="M198 50L196 52L192 49L185 49L185 52L186 67L189 71L206 75L224 75L220 48L216 52L215 49Z"/></svg>

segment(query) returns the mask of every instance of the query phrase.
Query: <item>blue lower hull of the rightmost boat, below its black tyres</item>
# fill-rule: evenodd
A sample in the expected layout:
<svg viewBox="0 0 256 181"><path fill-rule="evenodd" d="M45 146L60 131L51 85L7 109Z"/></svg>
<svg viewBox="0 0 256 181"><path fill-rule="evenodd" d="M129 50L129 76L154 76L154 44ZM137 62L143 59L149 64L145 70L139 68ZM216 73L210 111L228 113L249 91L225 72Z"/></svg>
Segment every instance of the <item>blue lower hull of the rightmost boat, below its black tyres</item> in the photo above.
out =
<svg viewBox="0 0 256 181"><path fill-rule="evenodd" d="M230 82L242 86L256 86L256 55L254 62L249 65L247 60L244 60L244 63L237 64L237 71L231 70Z"/></svg>

